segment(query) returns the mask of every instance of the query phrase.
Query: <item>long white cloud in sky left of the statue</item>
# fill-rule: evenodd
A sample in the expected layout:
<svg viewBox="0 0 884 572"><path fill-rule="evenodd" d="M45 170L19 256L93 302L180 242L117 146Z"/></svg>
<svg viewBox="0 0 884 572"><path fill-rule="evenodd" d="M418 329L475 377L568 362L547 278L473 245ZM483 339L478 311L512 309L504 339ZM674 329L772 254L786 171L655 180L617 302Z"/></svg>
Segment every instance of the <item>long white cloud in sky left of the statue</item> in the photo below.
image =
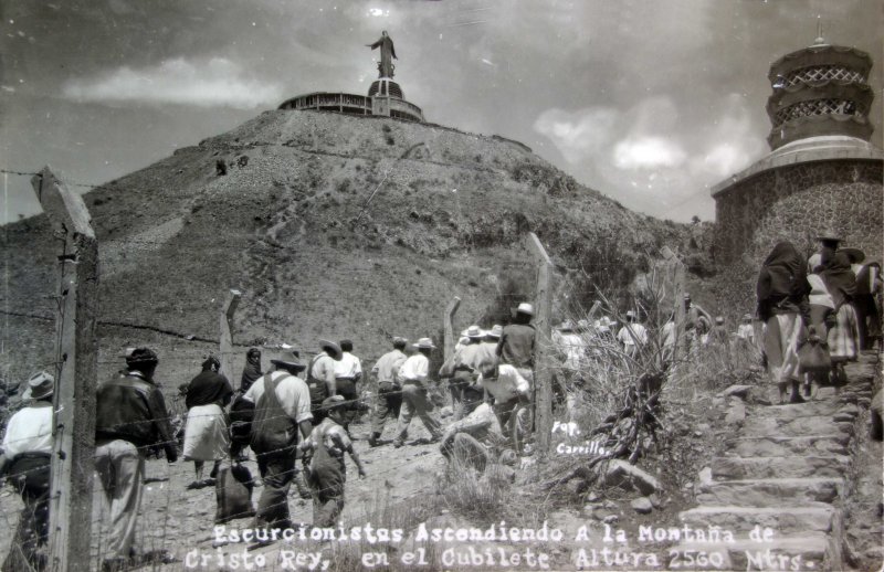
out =
<svg viewBox="0 0 884 572"><path fill-rule="evenodd" d="M141 102L238 109L276 104L282 98L278 85L246 77L239 64L224 57L204 62L177 57L140 70L123 66L91 78L67 82L63 94L85 102Z"/></svg>

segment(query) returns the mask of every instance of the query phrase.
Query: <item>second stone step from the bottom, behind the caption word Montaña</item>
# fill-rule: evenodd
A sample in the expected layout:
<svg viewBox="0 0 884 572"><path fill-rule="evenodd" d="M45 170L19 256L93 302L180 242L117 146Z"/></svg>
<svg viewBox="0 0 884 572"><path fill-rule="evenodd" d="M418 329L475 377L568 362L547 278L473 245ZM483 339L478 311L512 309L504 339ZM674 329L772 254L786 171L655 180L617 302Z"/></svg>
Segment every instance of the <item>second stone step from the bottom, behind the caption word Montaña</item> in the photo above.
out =
<svg viewBox="0 0 884 572"><path fill-rule="evenodd" d="M783 536L807 531L830 532L835 509L824 502L800 507L701 506L678 513L682 522L696 527L720 527L738 537L749 533L749 526L770 527Z"/></svg>

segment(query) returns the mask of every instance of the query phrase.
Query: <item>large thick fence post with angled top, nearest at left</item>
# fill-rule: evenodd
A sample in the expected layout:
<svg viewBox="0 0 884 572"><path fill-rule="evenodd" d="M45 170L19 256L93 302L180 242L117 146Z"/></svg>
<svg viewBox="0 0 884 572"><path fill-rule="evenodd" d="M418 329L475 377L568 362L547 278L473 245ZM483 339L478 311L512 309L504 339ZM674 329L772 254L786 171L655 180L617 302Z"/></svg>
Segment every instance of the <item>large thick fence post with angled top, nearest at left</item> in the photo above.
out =
<svg viewBox="0 0 884 572"><path fill-rule="evenodd" d="M80 194L71 192L45 167L31 179L56 235L61 292L56 317L56 368L53 395L53 454L50 480L51 570L87 571L95 469L95 336L98 294L98 242Z"/></svg>

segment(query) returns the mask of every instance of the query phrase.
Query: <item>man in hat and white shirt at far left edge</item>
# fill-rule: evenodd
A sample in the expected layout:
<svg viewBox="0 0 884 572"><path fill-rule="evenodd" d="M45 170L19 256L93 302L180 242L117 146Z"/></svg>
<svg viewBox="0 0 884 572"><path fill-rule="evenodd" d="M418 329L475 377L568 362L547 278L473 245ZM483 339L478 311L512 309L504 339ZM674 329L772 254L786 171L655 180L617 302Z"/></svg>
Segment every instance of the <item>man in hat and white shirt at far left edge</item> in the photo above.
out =
<svg viewBox="0 0 884 572"><path fill-rule="evenodd" d="M15 412L3 436L0 478L9 476L24 507L12 537L3 570L43 570L45 554L40 547L49 538L50 458L52 455L52 392L55 380L41 371L28 380L22 401L28 405Z"/></svg>

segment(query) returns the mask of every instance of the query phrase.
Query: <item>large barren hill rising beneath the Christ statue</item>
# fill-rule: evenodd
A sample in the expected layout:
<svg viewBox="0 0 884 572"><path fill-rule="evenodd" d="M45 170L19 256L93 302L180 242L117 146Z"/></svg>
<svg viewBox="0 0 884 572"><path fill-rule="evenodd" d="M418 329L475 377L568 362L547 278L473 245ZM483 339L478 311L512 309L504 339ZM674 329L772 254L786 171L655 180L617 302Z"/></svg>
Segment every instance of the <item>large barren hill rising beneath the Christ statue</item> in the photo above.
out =
<svg viewBox="0 0 884 572"><path fill-rule="evenodd" d="M85 200L101 244L102 371L126 345L159 340L192 370L210 345L150 330L215 339L233 287L244 294L238 345L309 350L318 337L349 337L371 358L390 335L438 336L454 295L457 327L504 319L533 292L527 231L578 301L691 240L516 141L316 112L265 112ZM52 322L33 316L52 316L57 244L43 215L4 230L3 360L20 378L51 354Z"/></svg>

